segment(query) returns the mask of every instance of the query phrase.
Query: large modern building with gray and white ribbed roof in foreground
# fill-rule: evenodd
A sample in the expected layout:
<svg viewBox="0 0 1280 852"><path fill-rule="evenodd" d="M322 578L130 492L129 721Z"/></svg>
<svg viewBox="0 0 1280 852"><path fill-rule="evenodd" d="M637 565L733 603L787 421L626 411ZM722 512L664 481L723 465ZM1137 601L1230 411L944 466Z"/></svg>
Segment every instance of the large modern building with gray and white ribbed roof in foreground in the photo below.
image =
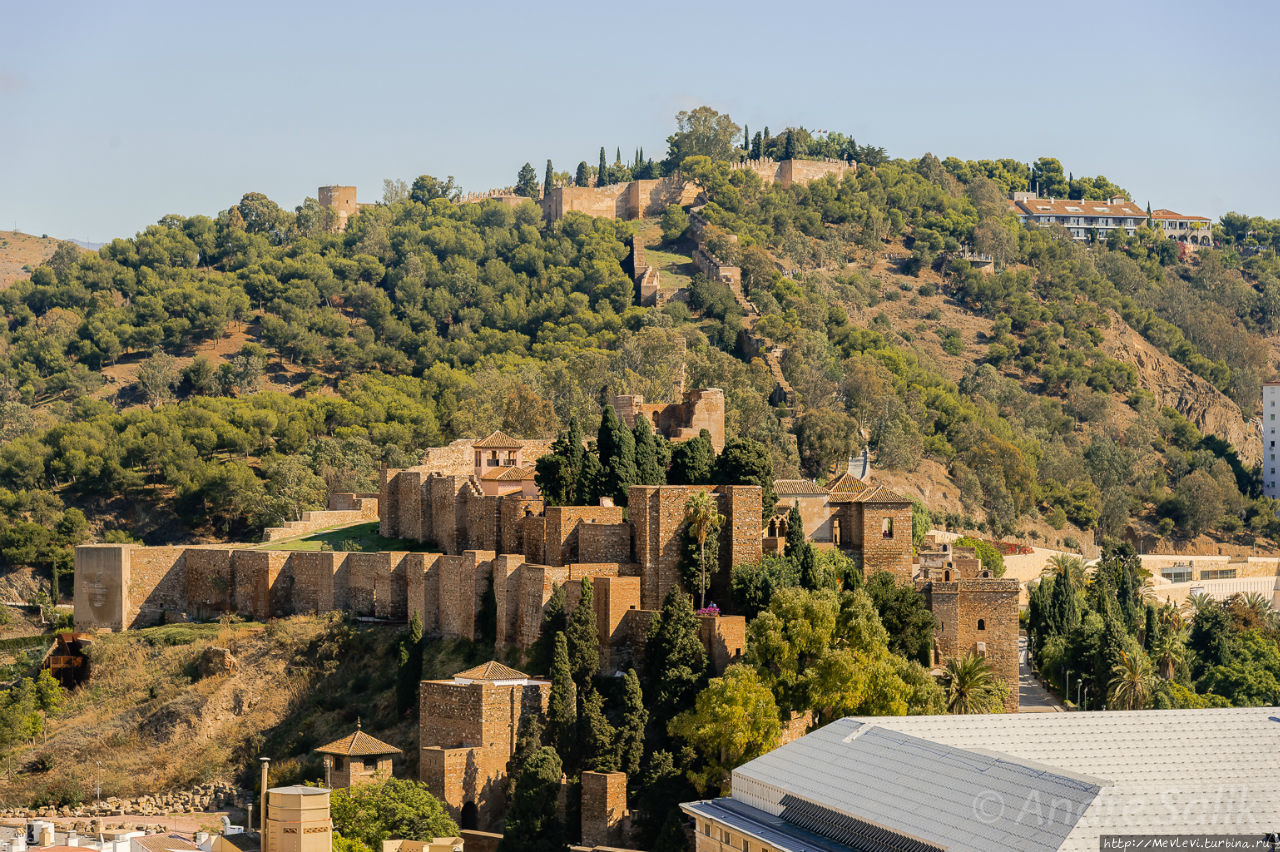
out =
<svg viewBox="0 0 1280 852"><path fill-rule="evenodd" d="M681 807L698 852L1094 852L1280 832L1277 777L1280 707L850 718Z"/></svg>

